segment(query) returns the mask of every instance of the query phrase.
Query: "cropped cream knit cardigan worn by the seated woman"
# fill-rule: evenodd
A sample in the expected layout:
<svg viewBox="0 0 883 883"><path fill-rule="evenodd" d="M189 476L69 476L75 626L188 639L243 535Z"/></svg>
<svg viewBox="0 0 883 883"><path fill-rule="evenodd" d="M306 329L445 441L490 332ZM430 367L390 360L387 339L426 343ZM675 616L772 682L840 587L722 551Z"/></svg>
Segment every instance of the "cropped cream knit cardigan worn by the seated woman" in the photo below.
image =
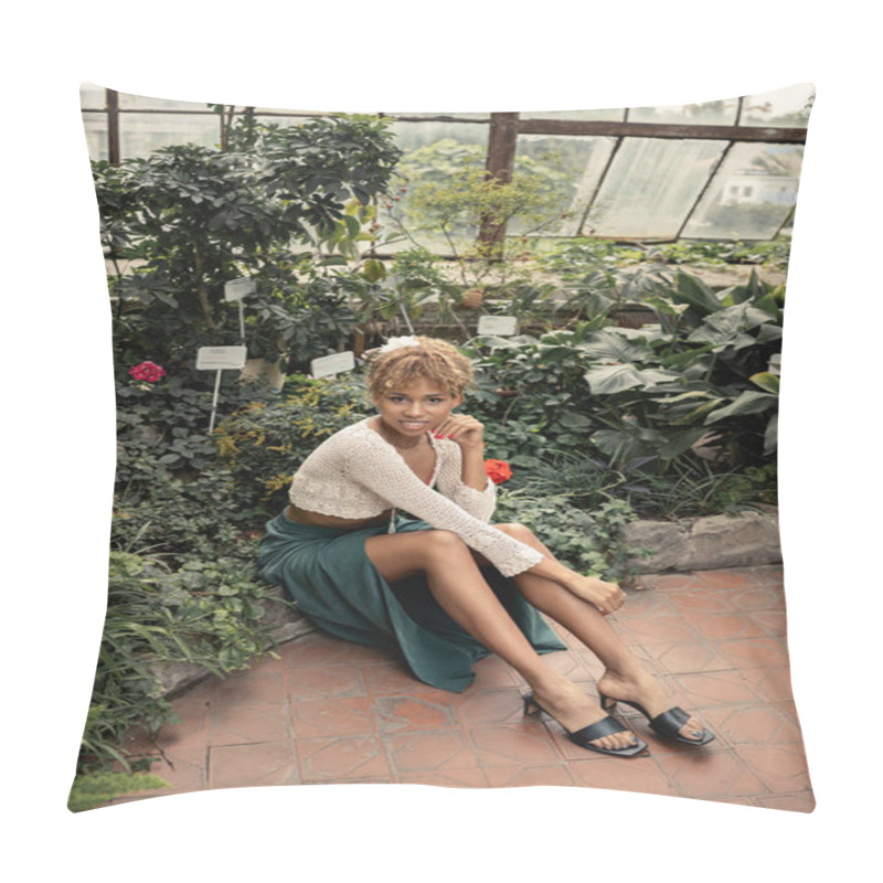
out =
<svg viewBox="0 0 883 883"><path fill-rule="evenodd" d="M304 460L288 491L296 507L351 519L379 515L390 507L404 509L434 528L456 533L503 576L515 576L543 560L535 549L488 523L497 489L490 480L483 491L464 485L459 445L429 435L436 464L434 481L425 485L369 426L371 419L334 433Z"/></svg>

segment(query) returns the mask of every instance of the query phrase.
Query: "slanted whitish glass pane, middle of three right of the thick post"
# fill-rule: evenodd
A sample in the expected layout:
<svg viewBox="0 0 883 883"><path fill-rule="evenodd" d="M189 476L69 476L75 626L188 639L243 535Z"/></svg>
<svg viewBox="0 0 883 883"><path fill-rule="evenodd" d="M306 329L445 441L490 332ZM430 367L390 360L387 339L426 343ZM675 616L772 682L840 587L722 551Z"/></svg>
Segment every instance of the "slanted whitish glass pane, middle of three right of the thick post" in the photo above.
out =
<svg viewBox="0 0 883 883"><path fill-rule="evenodd" d="M669 238L709 180L725 141L626 138L583 233Z"/></svg>

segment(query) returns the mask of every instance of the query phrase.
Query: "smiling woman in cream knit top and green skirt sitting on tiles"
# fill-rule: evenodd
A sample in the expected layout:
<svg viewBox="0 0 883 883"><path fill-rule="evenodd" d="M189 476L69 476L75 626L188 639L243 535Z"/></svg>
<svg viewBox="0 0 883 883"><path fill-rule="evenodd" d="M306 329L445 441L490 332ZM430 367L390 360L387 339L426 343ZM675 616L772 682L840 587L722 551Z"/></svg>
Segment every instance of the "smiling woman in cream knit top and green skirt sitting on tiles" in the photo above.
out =
<svg viewBox="0 0 883 883"><path fill-rule="evenodd" d="M290 506L262 540L263 575L320 628L401 652L417 678L444 690L466 689L474 663L496 652L532 690L525 713L549 710L589 751L647 749L606 714L617 700L660 735L711 742L605 621L625 603L619 586L568 570L523 525L490 523L485 427L455 413L471 379L469 360L445 341L401 338L381 348L369 373L377 415L304 461ZM542 659L565 647L541 611L603 661L603 708Z"/></svg>

